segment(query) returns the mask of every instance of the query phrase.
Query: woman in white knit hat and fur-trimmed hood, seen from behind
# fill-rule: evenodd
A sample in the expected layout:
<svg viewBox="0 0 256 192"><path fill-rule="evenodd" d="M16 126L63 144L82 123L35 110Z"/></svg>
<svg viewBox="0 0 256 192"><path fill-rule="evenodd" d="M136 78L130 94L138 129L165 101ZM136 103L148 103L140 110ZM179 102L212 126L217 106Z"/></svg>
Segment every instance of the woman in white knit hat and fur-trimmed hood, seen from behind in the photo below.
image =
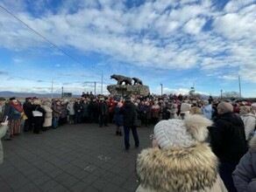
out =
<svg viewBox="0 0 256 192"><path fill-rule="evenodd" d="M217 156L203 141L211 121L202 115L161 120L154 127L153 148L138 156L136 192L226 192L217 172Z"/></svg>

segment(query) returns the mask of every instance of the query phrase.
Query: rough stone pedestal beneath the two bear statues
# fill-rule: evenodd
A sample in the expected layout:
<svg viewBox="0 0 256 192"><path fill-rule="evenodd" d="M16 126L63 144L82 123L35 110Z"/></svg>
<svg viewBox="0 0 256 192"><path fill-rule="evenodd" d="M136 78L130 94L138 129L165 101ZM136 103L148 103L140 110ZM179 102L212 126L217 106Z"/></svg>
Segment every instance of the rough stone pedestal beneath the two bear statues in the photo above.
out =
<svg viewBox="0 0 256 192"><path fill-rule="evenodd" d="M110 92L111 95L120 95L120 96L128 96L132 94L139 94L146 96L149 91L148 86L143 86L143 85L135 85L135 86L130 86L130 85L110 85L107 86L108 91Z"/></svg>

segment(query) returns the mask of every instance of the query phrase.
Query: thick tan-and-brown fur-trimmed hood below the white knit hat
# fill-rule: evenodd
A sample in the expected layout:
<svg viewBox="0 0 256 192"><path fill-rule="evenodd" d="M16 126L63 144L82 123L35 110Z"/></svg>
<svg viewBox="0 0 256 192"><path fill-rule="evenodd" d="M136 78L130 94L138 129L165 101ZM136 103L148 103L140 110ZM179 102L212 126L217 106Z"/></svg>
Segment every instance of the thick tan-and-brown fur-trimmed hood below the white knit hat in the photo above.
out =
<svg viewBox="0 0 256 192"><path fill-rule="evenodd" d="M138 156L141 185L157 191L192 191L211 188L217 181L217 157L208 144L195 147L144 149Z"/></svg>

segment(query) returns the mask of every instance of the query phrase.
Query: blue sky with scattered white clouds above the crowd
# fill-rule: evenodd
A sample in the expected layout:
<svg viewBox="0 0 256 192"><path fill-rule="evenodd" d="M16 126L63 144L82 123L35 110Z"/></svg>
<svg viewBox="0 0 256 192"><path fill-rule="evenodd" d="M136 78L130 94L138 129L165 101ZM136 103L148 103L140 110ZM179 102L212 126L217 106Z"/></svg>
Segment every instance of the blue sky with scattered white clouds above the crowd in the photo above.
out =
<svg viewBox="0 0 256 192"><path fill-rule="evenodd" d="M1 0L0 91L103 93L112 74L151 93L256 96L255 0ZM4 9L30 26L29 29ZM57 46L57 47L56 47ZM61 51L60 51L61 50ZM67 53L67 54L65 54Z"/></svg>

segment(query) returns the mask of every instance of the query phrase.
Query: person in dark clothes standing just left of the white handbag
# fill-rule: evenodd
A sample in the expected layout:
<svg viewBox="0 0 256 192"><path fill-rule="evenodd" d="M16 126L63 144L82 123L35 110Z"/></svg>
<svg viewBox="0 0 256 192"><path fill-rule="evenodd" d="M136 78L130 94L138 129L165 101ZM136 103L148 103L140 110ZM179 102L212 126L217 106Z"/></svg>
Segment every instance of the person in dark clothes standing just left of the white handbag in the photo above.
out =
<svg viewBox="0 0 256 192"><path fill-rule="evenodd" d="M33 115L32 111L34 110L34 105L32 105L32 98L25 98L25 102L23 104L23 110L27 119L24 124L24 132L32 131L33 129Z"/></svg>

